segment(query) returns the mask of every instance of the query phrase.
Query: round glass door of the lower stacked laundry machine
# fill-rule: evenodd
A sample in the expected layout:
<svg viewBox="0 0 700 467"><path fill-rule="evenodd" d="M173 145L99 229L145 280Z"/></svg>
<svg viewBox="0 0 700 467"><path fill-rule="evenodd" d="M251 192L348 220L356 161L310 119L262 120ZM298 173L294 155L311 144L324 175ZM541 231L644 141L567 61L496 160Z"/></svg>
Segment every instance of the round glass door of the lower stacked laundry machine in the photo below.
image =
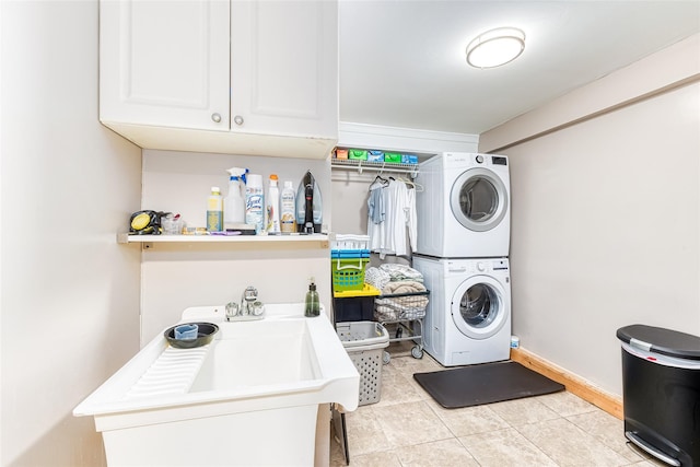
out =
<svg viewBox="0 0 700 467"><path fill-rule="evenodd" d="M452 319L471 339L497 334L511 313L505 290L490 276L472 276L459 284L452 296Z"/></svg>

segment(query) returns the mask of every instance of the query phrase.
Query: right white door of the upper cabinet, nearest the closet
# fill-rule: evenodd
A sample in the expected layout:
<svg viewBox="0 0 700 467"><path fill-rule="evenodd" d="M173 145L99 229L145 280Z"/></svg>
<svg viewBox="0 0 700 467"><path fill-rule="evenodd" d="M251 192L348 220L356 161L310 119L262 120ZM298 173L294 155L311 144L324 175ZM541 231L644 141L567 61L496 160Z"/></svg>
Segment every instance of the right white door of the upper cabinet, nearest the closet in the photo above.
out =
<svg viewBox="0 0 700 467"><path fill-rule="evenodd" d="M231 5L232 131L337 138L338 4Z"/></svg>

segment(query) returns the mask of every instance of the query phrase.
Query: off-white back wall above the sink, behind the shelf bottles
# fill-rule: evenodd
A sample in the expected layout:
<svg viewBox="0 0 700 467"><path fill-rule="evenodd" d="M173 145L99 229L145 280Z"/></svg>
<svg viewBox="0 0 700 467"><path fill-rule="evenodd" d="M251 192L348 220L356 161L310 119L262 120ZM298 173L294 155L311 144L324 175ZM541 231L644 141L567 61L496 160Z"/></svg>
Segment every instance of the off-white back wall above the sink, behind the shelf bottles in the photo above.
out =
<svg viewBox="0 0 700 467"><path fill-rule="evenodd" d="M330 167L328 161L262 157L175 151L143 151L143 209L178 212L190 225L205 226L207 197L212 186L228 194L226 168L247 167L294 189L307 170L319 185L324 224L330 229ZM223 305L240 301L254 285L264 303L303 302L314 277L322 303L330 307L328 248L303 244L154 244L143 253L142 343L179 320L188 306Z"/></svg>

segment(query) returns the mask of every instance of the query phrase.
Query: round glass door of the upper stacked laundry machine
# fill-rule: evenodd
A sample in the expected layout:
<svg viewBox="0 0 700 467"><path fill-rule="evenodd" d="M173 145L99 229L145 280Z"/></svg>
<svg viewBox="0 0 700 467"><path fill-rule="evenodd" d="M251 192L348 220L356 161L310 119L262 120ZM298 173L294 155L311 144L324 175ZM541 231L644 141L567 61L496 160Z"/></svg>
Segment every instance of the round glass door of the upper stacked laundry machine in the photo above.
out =
<svg viewBox="0 0 700 467"><path fill-rule="evenodd" d="M493 172L470 168L452 186L450 207L457 221L470 231L490 231L505 217L508 191Z"/></svg>

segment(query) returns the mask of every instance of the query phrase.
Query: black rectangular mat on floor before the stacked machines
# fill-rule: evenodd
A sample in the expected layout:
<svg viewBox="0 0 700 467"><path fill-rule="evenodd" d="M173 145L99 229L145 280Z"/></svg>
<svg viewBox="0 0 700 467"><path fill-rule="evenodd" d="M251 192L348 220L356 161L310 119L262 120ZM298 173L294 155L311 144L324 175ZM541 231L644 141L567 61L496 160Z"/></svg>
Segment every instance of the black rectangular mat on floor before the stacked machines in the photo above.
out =
<svg viewBox="0 0 700 467"><path fill-rule="evenodd" d="M495 362L413 374L446 409L480 406L563 390L564 386L517 362Z"/></svg>

